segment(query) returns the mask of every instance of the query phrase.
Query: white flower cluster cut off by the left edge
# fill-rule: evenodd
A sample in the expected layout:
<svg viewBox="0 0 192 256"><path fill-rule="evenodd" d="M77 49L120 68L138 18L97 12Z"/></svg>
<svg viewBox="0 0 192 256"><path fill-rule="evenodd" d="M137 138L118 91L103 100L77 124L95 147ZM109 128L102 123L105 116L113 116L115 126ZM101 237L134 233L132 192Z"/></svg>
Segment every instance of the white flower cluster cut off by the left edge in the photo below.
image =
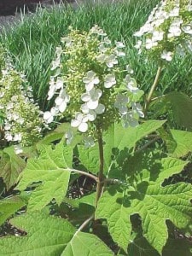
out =
<svg viewBox="0 0 192 256"><path fill-rule="evenodd" d="M3 114L4 139L15 144L19 154L23 146L30 146L41 137L44 119L32 99L32 88L24 89L25 77L12 67L2 70L0 79L0 112Z"/></svg>

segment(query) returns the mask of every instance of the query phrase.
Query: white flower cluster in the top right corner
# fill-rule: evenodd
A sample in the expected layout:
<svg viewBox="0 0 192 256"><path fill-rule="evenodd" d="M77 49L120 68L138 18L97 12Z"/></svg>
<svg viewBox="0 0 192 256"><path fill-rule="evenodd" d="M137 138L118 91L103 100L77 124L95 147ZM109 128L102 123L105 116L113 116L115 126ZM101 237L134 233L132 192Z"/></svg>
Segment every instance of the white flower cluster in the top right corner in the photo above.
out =
<svg viewBox="0 0 192 256"><path fill-rule="evenodd" d="M192 2L191 0L163 0L148 16L147 22L135 32L135 48L139 53L150 50L162 60L172 61L175 52L183 55L192 52Z"/></svg>

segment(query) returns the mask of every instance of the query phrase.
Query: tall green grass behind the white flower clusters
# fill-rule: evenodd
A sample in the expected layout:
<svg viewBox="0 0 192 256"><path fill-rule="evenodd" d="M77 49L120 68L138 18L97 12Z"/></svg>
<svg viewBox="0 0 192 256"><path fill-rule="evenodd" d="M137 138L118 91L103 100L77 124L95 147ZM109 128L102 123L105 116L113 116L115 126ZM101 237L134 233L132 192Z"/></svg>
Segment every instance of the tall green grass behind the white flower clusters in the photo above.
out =
<svg viewBox="0 0 192 256"><path fill-rule="evenodd" d="M94 1L95 2L95 1ZM97 0L98 2L98 0ZM156 1L127 0L121 3L87 3L78 9L61 5L53 9L38 9L35 15L23 16L15 26L0 35L12 55L15 67L26 73L34 90L34 96L42 109L48 108L46 94L49 88L50 63L60 38L67 34L68 26L89 30L94 24L101 26L113 41L126 44L126 60L135 70L140 87L148 91L156 72L155 63L146 62L133 48L137 31L148 18ZM191 56L175 58L162 75L161 93L181 90L192 94ZM187 75L186 75L187 74Z"/></svg>

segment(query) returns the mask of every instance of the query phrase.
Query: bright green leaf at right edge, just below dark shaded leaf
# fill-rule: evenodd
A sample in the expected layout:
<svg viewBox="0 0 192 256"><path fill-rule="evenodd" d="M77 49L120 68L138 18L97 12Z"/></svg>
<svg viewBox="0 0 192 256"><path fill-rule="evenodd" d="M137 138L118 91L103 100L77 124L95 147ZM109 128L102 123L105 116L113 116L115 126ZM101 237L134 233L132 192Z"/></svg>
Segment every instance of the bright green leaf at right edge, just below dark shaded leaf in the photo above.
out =
<svg viewBox="0 0 192 256"><path fill-rule="evenodd" d="M172 152L172 156L179 158L192 152L192 132L171 130L171 133L177 143L176 148Z"/></svg>

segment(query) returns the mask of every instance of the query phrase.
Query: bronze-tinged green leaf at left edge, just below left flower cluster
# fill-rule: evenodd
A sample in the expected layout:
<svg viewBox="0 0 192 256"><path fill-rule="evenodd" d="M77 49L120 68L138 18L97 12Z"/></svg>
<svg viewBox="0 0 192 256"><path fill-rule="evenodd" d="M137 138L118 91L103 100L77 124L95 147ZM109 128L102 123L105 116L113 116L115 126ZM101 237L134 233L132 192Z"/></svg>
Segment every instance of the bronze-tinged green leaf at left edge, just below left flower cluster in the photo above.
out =
<svg viewBox="0 0 192 256"><path fill-rule="evenodd" d="M0 158L0 177L3 177L3 182L8 190L17 183L19 174L25 166L25 160L21 159L20 155L15 154L14 147L3 149Z"/></svg>

